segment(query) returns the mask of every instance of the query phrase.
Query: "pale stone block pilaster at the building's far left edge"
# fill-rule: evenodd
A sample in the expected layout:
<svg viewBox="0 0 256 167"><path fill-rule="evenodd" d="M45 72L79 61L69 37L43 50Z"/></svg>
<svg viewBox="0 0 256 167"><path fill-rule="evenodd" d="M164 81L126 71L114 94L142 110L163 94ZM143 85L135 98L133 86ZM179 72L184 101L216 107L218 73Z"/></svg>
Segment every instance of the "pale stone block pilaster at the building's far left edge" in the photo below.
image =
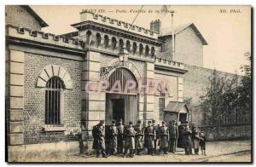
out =
<svg viewBox="0 0 256 167"><path fill-rule="evenodd" d="M23 51L9 49L6 61L7 78L6 89L8 98L6 98L8 118L8 145L24 144L24 57Z"/></svg>

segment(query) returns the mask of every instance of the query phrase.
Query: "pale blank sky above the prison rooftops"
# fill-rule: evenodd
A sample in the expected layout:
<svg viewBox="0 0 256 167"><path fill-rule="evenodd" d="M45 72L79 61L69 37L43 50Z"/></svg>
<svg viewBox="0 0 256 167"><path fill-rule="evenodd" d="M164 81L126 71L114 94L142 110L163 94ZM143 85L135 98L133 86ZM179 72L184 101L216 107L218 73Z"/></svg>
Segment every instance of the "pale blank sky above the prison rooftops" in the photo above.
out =
<svg viewBox="0 0 256 167"><path fill-rule="evenodd" d="M80 20L82 9L96 9L102 15L150 28L151 20L160 19L162 28L171 27L171 14L159 14L162 6L46 6L32 5L32 9L49 25L43 32L56 35L76 31L72 26ZM100 10L99 10L100 9ZM151 9L152 13L149 13ZM245 53L251 52L250 6L167 6L174 10L174 26L191 23L199 29L208 45L204 46L203 66L219 71L242 74L240 66L247 64ZM225 11L225 12L224 12Z"/></svg>

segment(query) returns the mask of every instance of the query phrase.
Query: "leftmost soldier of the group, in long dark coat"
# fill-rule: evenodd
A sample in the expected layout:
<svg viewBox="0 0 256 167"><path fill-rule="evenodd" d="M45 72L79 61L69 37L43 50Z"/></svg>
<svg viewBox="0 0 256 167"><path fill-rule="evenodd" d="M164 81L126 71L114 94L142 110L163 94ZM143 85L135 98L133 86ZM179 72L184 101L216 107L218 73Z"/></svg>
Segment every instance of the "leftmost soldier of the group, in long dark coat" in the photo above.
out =
<svg viewBox="0 0 256 167"><path fill-rule="evenodd" d="M100 121L100 123L96 124L92 129L92 136L93 136L92 149L96 150L97 158L100 157L101 151L102 151L102 157L108 158L108 156L106 154L104 130L105 130L104 121Z"/></svg>

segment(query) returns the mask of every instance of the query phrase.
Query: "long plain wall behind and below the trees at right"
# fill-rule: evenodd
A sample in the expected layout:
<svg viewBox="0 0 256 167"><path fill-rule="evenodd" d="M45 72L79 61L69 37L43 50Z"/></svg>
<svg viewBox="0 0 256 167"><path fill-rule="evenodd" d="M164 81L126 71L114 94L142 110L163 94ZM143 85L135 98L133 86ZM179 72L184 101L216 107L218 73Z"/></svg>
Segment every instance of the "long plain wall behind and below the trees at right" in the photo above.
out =
<svg viewBox="0 0 256 167"><path fill-rule="evenodd" d="M212 75L213 70L198 67L198 66L184 66L189 72L183 75L183 95L184 99L192 98L189 104L190 120L196 126L200 127L207 134L209 141L220 140L236 140L247 139L251 136L251 125L246 118L247 123L244 124L230 124L222 126L208 126L203 124L203 111L199 107L200 96L205 95L208 84L208 78ZM235 74L228 72L218 72L219 76L226 76L227 78L235 77ZM238 78L238 82L241 77Z"/></svg>

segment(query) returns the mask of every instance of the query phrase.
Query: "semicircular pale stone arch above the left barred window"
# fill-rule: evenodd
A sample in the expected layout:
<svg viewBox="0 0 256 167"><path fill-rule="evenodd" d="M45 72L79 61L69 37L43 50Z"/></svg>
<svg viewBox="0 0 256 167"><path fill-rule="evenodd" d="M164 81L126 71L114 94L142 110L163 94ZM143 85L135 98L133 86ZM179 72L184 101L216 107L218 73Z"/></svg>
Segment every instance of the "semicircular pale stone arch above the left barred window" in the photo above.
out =
<svg viewBox="0 0 256 167"><path fill-rule="evenodd" d="M45 88L49 78L59 77L65 84L66 89L73 89L73 80L70 78L69 73L61 66L48 65L38 75L37 87Z"/></svg>

